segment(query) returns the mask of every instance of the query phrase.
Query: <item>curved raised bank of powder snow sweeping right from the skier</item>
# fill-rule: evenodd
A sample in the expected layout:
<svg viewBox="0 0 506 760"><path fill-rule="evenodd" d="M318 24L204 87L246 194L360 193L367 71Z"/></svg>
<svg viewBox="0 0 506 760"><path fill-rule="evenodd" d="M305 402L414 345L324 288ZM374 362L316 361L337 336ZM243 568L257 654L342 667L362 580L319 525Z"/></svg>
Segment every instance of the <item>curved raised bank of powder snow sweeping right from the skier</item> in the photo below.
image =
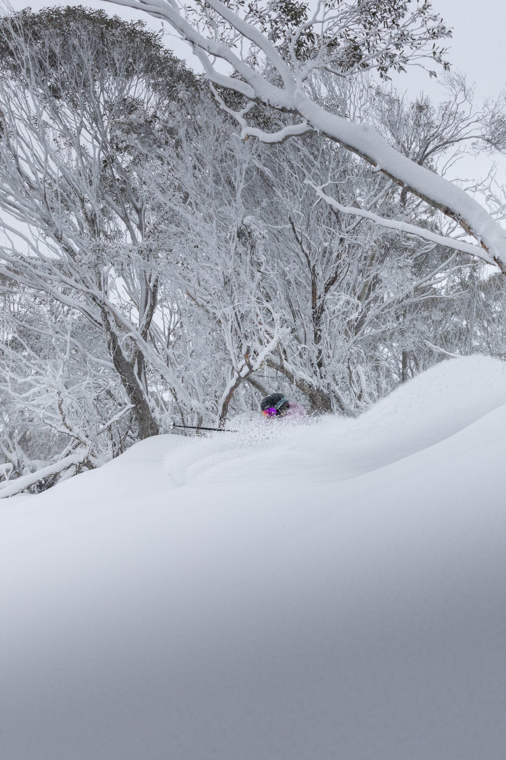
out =
<svg viewBox="0 0 506 760"><path fill-rule="evenodd" d="M226 439L186 439L164 468L174 486L347 480L428 448L503 404L506 364L463 356L421 373L356 420L276 428L262 420Z"/></svg>

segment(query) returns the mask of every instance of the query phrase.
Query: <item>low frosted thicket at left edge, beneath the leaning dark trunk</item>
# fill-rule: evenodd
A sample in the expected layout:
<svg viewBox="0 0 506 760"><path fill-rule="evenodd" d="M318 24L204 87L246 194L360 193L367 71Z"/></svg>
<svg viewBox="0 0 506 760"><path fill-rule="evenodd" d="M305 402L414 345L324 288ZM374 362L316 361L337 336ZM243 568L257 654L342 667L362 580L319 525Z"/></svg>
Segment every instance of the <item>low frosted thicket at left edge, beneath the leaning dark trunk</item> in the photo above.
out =
<svg viewBox="0 0 506 760"><path fill-rule="evenodd" d="M4 475L14 478L5 487L14 493L103 464L128 436L123 418L131 407L83 318L5 278L1 290L0 449Z"/></svg>

